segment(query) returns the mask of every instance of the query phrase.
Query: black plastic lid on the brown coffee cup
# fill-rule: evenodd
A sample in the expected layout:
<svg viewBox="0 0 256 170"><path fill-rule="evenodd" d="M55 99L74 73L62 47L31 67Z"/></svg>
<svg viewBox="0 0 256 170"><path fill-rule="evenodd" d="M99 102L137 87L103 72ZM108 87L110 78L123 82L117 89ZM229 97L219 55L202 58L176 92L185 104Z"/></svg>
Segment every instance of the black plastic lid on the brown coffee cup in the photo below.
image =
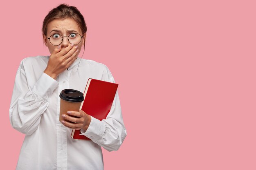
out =
<svg viewBox="0 0 256 170"><path fill-rule="evenodd" d="M61 91L60 97L69 102L82 102L84 100L83 93L74 89L64 89Z"/></svg>

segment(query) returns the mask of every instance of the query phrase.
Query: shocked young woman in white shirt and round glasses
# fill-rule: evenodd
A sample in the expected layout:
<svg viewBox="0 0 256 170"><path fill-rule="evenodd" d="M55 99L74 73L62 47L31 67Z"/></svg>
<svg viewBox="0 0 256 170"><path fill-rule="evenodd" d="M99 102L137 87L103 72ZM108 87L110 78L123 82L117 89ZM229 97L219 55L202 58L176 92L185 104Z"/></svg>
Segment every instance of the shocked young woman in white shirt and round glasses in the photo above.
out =
<svg viewBox="0 0 256 170"><path fill-rule="evenodd" d="M83 92L89 78L115 83L104 64L78 57L86 30L78 9L61 4L43 21L43 41L51 55L20 62L9 110L12 127L26 134L16 170L103 170L101 147L118 150L123 143L126 128L118 93L102 121L83 110L66 113L71 122L59 121L63 89ZM72 139L72 129L81 129L91 140Z"/></svg>

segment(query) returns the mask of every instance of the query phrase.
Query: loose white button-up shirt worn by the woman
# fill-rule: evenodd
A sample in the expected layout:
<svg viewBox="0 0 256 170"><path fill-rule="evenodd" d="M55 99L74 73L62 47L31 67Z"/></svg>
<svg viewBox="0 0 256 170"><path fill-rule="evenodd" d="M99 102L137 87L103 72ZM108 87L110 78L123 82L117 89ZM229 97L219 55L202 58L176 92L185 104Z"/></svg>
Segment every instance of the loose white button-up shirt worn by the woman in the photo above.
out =
<svg viewBox="0 0 256 170"><path fill-rule="evenodd" d="M48 60L27 57L16 73L9 116L11 126L26 134L16 170L103 170L101 146L118 150L126 137L118 93L107 118L92 117L81 130L91 140L70 137L72 129L59 121L59 94L67 88L83 93L89 78L115 83L113 76L104 64L77 58L55 80L43 73Z"/></svg>

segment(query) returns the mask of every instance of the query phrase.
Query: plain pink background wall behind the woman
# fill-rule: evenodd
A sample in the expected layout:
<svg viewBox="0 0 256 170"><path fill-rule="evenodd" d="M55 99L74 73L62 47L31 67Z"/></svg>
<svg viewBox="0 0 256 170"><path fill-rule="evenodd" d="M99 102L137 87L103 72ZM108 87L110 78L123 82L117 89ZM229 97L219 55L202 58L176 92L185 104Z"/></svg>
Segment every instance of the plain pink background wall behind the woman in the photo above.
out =
<svg viewBox="0 0 256 170"><path fill-rule="evenodd" d="M85 17L83 58L119 84L128 135L103 149L105 170L256 169L254 0L2 2L1 169L15 169L24 139L9 121L17 68L49 55L41 26L61 2Z"/></svg>

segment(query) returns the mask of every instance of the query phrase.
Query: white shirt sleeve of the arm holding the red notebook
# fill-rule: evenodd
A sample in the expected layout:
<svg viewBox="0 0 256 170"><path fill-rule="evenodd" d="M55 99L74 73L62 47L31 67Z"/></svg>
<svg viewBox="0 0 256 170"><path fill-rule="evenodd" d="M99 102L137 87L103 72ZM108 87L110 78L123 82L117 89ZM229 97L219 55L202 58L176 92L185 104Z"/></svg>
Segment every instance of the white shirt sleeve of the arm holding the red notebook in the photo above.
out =
<svg viewBox="0 0 256 170"><path fill-rule="evenodd" d="M109 82L115 83L114 78L111 77ZM86 131L81 129L80 131L80 135L85 135L94 143L102 146L108 151L119 149L127 135L127 132L121 113L118 92L115 95L113 104L106 119L100 121L99 119L92 117L88 129Z"/></svg>

